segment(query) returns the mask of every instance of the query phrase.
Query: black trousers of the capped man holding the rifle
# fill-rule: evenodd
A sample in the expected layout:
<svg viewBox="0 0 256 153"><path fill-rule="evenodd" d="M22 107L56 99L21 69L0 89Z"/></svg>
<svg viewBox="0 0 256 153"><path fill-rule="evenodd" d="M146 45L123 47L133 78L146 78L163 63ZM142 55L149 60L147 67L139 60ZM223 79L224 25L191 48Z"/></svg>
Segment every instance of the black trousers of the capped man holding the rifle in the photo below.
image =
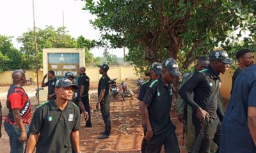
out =
<svg viewBox="0 0 256 153"><path fill-rule="evenodd" d="M200 129L201 129L200 124L195 124L196 136L199 135ZM213 125L209 123L209 125L205 130L204 140L199 150L200 153L210 153L212 141L216 143L218 147L220 146L220 129L221 129L220 121L217 121L217 123L214 123ZM219 152L219 149L216 151L216 153L218 152Z"/></svg>

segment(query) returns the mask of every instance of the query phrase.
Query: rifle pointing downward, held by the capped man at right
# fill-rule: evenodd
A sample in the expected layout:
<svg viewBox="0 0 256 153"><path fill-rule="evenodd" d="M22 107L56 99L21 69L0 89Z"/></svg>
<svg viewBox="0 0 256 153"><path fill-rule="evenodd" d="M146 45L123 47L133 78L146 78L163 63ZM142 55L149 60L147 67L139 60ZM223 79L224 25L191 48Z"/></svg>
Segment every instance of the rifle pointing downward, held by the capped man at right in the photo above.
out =
<svg viewBox="0 0 256 153"><path fill-rule="evenodd" d="M200 133L196 137L196 142L195 142L195 146L193 147L192 153L198 153L199 152L200 147L202 145L202 142L204 140L205 131L206 131L206 128L208 126L208 123L209 123L209 118L206 116L205 119L204 119L204 122L201 126Z"/></svg>

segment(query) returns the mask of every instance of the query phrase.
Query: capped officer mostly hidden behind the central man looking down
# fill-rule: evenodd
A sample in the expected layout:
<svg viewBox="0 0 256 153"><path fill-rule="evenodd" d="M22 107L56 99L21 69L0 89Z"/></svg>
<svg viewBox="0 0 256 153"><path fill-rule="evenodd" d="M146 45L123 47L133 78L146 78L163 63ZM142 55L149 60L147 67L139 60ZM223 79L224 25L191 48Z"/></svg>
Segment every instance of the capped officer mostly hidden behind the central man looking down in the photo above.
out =
<svg viewBox="0 0 256 153"><path fill-rule="evenodd" d="M147 82L144 82L144 84L141 85L141 88L140 88L140 93L138 96L138 99L140 101L140 106L143 104L143 98L145 96L145 92L147 90L148 85L150 85L150 83L152 81L160 78L161 75L162 75L161 64L159 62L154 62L152 64L152 69L150 70L150 80L148 80ZM146 136L146 125L145 125L145 121L143 120L143 118L142 118L142 127L143 127L144 136ZM147 140L145 138L143 138L143 140L141 142L141 152L145 152L146 147L147 147Z"/></svg>

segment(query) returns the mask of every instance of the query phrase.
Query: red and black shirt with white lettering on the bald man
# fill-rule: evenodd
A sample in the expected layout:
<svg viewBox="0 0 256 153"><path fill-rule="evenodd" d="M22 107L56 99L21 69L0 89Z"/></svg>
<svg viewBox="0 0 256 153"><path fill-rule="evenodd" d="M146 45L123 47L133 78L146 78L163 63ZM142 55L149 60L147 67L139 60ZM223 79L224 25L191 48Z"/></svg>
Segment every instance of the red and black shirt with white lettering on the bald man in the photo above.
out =
<svg viewBox="0 0 256 153"><path fill-rule="evenodd" d="M6 115L5 119L6 122L15 125L13 109L20 108L22 121L25 124L29 124L31 120L31 103L23 88L11 85L7 94L6 106L9 109L9 113Z"/></svg>

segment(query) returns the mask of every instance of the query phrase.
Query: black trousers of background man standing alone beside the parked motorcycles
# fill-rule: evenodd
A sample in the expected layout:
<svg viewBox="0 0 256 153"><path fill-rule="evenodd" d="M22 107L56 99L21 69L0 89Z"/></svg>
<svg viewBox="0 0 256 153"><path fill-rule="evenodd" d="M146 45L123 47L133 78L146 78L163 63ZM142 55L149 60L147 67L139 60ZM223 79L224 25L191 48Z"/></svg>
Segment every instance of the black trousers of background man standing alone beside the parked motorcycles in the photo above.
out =
<svg viewBox="0 0 256 153"><path fill-rule="evenodd" d="M105 135L110 135L111 131L111 122L110 122L110 113L109 113L109 102L110 96L108 95L106 99L100 101L100 112L102 115L102 119L105 124Z"/></svg>

